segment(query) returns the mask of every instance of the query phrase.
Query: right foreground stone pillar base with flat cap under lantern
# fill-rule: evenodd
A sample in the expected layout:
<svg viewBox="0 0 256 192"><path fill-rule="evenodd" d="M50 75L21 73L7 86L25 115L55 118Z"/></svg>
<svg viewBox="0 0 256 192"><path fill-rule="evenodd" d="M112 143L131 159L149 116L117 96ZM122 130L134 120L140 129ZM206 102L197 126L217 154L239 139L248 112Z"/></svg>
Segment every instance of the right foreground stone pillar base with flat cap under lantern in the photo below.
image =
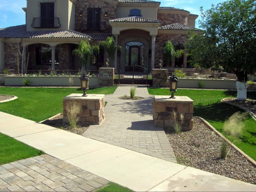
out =
<svg viewBox="0 0 256 192"><path fill-rule="evenodd" d="M176 113L177 120L179 120L180 114L184 116L182 130L192 130L194 101L187 96L175 96L174 99L170 99L169 97L154 97L153 120L155 127L171 127L171 120L174 118L174 113Z"/></svg>

